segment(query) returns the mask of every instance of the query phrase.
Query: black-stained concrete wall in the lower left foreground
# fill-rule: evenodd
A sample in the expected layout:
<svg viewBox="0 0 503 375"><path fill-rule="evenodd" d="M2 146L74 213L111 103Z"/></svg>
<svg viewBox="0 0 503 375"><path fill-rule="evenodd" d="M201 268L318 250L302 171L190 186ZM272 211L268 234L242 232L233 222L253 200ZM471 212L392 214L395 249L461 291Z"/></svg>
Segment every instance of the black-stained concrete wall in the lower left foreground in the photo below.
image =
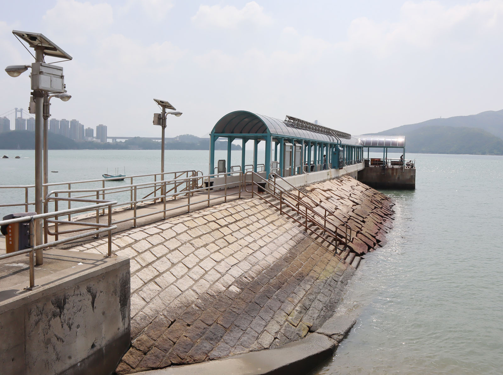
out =
<svg viewBox="0 0 503 375"><path fill-rule="evenodd" d="M109 374L127 351L129 259L66 253L95 266L36 279L40 288L0 304L0 373Z"/></svg>

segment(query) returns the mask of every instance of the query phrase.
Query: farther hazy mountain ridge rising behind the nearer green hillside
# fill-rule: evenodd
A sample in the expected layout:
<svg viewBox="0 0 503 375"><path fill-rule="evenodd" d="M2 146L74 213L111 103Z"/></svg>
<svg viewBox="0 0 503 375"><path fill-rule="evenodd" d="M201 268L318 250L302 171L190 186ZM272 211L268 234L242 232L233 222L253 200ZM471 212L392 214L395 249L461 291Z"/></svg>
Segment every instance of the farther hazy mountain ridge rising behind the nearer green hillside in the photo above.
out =
<svg viewBox="0 0 503 375"><path fill-rule="evenodd" d="M448 126L448 127L465 127L478 128L489 132L496 137L503 139L503 109L494 111L488 110L478 114L470 114L469 116L454 116L448 118L433 118L431 120L402 125L401 127L385 130L384 132L374 133L377 135L396 135L403 136L412 130L432 126Z"/></svg>

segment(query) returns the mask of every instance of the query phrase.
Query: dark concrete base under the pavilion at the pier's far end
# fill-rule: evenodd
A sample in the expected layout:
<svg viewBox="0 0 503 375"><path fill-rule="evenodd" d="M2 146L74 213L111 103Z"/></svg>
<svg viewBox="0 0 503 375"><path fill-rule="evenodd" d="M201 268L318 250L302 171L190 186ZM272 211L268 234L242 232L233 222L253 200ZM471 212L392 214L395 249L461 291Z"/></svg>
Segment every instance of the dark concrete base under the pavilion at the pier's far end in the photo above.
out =
<svg viewBox="0 0 503 375"><path fill-rule="evenodd" d="M358 181L375 189L415 189L415 169L367 167L358 172Z"/></svg>

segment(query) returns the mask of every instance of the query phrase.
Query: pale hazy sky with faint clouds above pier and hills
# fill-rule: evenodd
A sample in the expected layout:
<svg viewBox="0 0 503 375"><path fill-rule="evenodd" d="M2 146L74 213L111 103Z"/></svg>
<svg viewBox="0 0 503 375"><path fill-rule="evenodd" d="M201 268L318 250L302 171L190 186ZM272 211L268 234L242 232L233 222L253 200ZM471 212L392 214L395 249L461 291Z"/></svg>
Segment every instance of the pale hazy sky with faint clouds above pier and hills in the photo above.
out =
<svg viewBox="0 0 503 375"><path fill-rule="evenodd" d="M183 112L168 116L166 137L207 136L234 110L359 135L503 109L503 0L0 0L0 10L0 66L33 62L12 30L44 34L73 57L56 64L72 98L52 99L52 117L102 123L109 136L159 137L153 98ZM29 96L28 73L0 74L0 114L27 109Z"/></svg>

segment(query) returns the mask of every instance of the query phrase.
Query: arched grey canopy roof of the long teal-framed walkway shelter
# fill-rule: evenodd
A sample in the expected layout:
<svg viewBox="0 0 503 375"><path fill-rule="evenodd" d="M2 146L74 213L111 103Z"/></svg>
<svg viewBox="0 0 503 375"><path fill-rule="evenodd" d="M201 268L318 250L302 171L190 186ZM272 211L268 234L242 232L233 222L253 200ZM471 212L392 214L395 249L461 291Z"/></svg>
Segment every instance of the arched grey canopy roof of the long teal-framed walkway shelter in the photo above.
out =
<svg viewBox="0 0 503 375"><path fill-rule="evenodd" d="M215 136L229 135L259 135L268 134L273 137L304 139L326 143L341 143L342 139L333 135L318 133L295 127L293 123L262 114L248 111L234 111L220 118L213 127L211 134ZM351 140L343 140L351 142ZM343 142L343 144L348 144Z"/></svg>

